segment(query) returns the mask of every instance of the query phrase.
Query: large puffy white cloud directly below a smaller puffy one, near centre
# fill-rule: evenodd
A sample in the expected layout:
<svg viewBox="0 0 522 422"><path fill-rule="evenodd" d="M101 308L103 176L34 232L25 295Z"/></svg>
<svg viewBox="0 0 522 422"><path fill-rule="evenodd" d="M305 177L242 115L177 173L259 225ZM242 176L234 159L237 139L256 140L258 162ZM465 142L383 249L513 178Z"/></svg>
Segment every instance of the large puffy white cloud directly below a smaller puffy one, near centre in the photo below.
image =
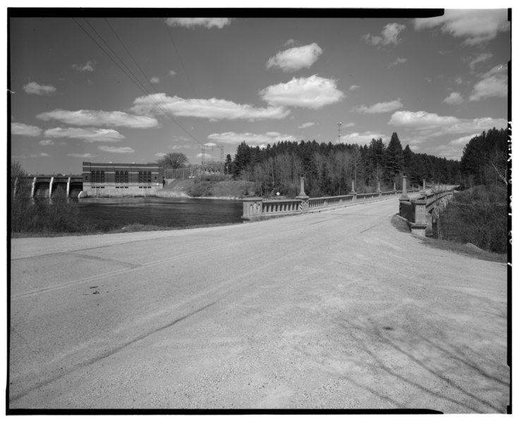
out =
<svg viewBox="0 0 522 422"><path fill-rule="evenodd" d="M344 94L337 89L334 80L317 75L293 77L289 82L266 87L259 94L272 106L314 109L334 104L344 98Z"/></svg>

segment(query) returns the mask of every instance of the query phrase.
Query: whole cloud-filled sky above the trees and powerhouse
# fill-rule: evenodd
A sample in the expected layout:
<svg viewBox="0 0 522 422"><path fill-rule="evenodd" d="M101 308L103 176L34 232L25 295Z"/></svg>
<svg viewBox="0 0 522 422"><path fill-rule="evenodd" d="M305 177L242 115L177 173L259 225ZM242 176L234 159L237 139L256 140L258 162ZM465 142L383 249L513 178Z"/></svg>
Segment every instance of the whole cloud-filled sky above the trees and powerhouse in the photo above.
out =
<svg viewBox="0 0 522 422"><path fill-rule="evenodd" d="M221 147L233 157L243 141L363 145L393 132L416 153L460 159L473 136L506 128L505 8L121 15L9 20L10 152L28 173L170 152L198 164L219 161Z"/></svg>

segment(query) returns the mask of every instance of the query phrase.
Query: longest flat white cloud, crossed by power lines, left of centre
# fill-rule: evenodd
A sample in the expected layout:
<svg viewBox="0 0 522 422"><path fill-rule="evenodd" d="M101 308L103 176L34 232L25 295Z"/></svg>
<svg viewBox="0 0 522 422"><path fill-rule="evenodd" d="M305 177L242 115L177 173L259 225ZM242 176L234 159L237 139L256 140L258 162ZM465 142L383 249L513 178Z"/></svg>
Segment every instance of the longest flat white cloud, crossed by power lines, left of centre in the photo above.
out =
<svg viewBox="0 0 522 422"><path fill-rule="evenodd" d="M134 100L133 113L150 115L171 113L172 116L200 117L211 120L262 120L285 118L290 111L282 107L255 108L224 99L183 99L167 97L164 93L147 95Z"/></svg>

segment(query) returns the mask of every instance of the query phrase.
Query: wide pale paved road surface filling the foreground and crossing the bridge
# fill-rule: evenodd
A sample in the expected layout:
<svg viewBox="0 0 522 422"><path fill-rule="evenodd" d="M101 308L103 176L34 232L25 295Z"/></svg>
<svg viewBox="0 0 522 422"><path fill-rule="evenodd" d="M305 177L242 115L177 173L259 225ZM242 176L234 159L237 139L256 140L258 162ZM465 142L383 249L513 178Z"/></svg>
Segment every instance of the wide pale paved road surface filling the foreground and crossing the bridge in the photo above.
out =
<svg viewBox="0 0 522 422"><path fill-rule="evenodd" d="M10 408L504 412L506 266L396 209L13 240Z"/></svg>

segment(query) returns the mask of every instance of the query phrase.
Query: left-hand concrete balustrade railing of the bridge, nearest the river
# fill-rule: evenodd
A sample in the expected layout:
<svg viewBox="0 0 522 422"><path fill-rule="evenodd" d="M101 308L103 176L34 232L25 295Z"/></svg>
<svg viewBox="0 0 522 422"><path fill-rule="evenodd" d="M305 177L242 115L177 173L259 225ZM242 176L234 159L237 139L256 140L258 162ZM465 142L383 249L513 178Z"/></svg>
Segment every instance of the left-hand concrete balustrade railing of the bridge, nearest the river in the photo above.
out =
<svg viewBox="0 0 522 422"><path fill-rule="evenodd" d="M413 191L409 191L413 192ZM263 220L290 216L300 213L320 211L322 209L334 208L336 206L347 206L356 201L378 199L383 196L396 195L396 190L390 192L372 192L368 194L357 194L352 192L347 195L336 197L310 198L304 192L304 178L301 178L301 193L296 199L262 199L260 197L243 199L243 218L247 221Z"/></svg>

